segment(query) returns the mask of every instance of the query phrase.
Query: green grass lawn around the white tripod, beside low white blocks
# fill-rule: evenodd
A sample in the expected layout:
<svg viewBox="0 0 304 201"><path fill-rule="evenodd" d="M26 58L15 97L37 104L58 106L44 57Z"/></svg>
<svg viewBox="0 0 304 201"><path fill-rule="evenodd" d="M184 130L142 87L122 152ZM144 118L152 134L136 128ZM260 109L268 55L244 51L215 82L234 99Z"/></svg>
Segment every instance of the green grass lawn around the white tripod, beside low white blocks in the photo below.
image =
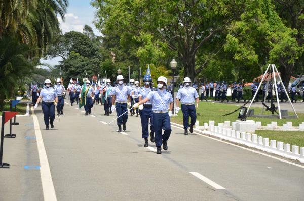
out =
<svg viewBox="0 0 304 201"><path fill-rule="evenodd" d="M248 106L249 103L246 105ZM211 103L211 102L201 102L199 104L199 108L197 110L197 113L200 115L197 115L197 120L199 121L199 124L201 126L204 125L204 123L208 123L209 120L214 120L215 125L217 123L224 123L225 120L230 120L231 122L234 122L237 120L239 111L235 112L234 114L231 114L229 116L223 116L224 114L230 113L236 109L238 109L238 106L235 105L229 105L229 104L221 104L221 103ZM252 108L255 111L255 114L261 113L261 108ZM271 112L267 111L264 112L265 115L271 115ZM292 112L289 113L289 115L294 115ZM273 119L273 118L251 118L248 117L248 120L254 120L254 121L260 121L262 122L262 126L267 126L268 123L271 123L272 121L277 121L278 126L283 126L284 123L292 122L293 126L298 126L300 123L304 122L304 114L298 113L297 119ZM171 117L172 122L183 124L183 117L181 110L178 113L178 116ZM270 140L277 140L282 141L284 143L290 143L291 145L297 145L299 147L304 147L304 132L303 131L268 131L268 130L257 130L255 132L258 136L262 137L268 137Z"/></svg>

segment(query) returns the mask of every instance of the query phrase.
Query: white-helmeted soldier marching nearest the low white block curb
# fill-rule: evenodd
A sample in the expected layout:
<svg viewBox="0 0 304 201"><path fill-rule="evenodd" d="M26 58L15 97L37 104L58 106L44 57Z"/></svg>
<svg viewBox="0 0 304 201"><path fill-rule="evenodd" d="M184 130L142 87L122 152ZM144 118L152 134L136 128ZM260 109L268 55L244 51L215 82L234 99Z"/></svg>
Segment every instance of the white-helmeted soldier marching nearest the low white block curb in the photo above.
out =
<svg viewBox="0 0 304 201"><path fill-rule="evenodd" d="M180 110L179 101L181 102L181 111L183 115L184 134L188 135L188 127L190 127L190 133L193 132L193 126L196 122L196 108L199 107L199 94L195 88L190 87L191 80L189 77L184 78L185 86L179 89L176 95L176 113ZM189 126L189 116L191 117Z"/></svg>

